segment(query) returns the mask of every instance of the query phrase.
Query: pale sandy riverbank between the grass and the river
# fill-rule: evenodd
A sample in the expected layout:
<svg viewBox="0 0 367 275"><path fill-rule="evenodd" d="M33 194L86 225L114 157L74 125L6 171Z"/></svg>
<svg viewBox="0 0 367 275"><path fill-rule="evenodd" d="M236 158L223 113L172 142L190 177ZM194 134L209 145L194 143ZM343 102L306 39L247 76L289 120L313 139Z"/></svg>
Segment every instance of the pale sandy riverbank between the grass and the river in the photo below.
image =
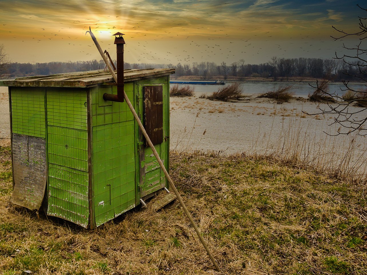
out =
<svg viewBox="0 0 367 275"><path fill-rule="evenodd" d="M7 87L0 88L0 137L9 138ZM329 136L326 133L339 127L330 126L331 115L302 113L317 113L317 107L327 109L327 104L295 99L283 104L270 99L229 103L198 96L170 98L171 150L294 155L312 165L347 169L357 163L366 169L365 136Z"/></svg>

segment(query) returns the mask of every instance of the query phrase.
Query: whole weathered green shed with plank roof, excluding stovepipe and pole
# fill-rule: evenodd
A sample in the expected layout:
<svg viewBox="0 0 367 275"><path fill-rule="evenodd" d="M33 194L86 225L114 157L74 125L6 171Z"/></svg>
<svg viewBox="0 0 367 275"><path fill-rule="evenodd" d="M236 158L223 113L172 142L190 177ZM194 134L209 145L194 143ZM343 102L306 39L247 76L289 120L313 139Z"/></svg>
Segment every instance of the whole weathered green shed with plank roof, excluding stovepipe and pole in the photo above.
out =
<svg viewBox="0 0 367 275"><path fill-rule="evenodd" d="M124 90L168 170L169 76L124 70ZM12 202L95 228L168 182L125 102L103 70L21 77L9 87Z"/></svg>

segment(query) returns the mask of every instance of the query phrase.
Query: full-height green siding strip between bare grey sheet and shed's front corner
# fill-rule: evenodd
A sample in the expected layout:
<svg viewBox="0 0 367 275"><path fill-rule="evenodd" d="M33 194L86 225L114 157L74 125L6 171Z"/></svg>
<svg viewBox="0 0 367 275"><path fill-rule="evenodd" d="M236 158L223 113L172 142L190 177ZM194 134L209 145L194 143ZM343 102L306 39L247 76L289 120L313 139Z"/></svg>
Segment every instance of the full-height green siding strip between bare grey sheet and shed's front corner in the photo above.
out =
<svg viewBox="0 0 367 275"><path fill-rule="evenodd" d="M88 132L85 90L47 90L47 214L88 226Z"/></svg>

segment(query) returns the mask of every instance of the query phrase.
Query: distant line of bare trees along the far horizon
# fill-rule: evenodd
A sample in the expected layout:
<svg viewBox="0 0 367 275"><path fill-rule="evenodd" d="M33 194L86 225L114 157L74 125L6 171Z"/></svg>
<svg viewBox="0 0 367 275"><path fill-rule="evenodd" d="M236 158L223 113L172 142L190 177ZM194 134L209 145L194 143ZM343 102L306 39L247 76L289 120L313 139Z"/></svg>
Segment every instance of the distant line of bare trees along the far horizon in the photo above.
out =
<svg viewBox="0 0 367 275"><path fill-rule="evenodd" d="M114 60L116 64L116 60ZM321 58L277 58L274 56L269 62L261 64L248 64L244 59L227 65L222 62L217 65L214 62L193 62L192 64L178 63L172 64L157 63L124 63L125 69L145 69L145 68L175 68L176 77L193 76L203 79L224 77L264 77L278 79L288 79L290 77L310 77L327 78L335 81L352 80L349 76L355 72L355 65L343 62L341 59L321 59ZM90 70L104 69L103 60L77 61L77 62L48 62L48 63L9 63L7 77L38 76L69 72L84 72Z"/></svg>

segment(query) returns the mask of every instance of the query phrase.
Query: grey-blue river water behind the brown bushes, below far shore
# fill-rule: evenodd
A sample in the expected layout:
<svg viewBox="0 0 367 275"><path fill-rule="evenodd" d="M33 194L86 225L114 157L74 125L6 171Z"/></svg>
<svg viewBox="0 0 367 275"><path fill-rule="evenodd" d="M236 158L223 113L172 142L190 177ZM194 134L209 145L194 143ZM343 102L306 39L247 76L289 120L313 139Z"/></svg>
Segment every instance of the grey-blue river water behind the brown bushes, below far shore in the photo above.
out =
<svg viewBox="0 0 367 275"><path fill-rule="evenodd" d="M231 84L227 82L226 85ZM312 86L316 87L316 83L310 83ZM172 84L171 84L172 85ZM240 87L242 88L242 92L244 94L263 94L265 92L274 91L279 87L285 87L288 85L292 85L295 96L302 96L306 97L309 94L312 94L315 91L315 88L311 87L308 83L302 84L284 84L284 83L240 83ZM185 86L185 84L179 84L180 86ZM218 91L219 88L222 88L223 85L189 85L194 89L195 92L199 93L211 93ZM356 91L365 91L366 86L364 84L357 84L357 85L348 85L349 88L354 89ZM345 86L343 84L330 84L329 85L329 92L335 92L339 96L345 93Z"/></svg>

